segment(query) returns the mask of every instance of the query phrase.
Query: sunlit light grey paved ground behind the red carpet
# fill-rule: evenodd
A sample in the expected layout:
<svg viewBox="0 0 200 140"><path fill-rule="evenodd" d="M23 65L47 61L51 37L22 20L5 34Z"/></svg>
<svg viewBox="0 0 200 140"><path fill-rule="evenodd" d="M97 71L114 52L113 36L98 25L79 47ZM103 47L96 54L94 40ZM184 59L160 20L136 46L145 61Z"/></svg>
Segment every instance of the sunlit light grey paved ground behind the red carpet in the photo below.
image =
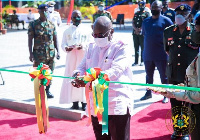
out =
<svg viewBox="0 0 200 140"><path fill-rule="evenodd" d="M89 22L84 22L83 24L88 28L91 26L91 23ZM26 28L27 26L28 25L26 25ZM60 35L62 35L66 27L67 25L63 23L62 26L59 28ZM116 28L116 26L114 25L114 29L114 38L120 39L127 43L129 47L132 48L134 54L131 24L125 24L125 29ZM29 71L32 63L29 61L27 38L27 30L8 29L8 33L6 35L0 35L0 68ZM61 37L59 37L59 39L61 40ZM62 76L64 74L66 56L62 50L60 52L61 59L56 60L54 75ZM134 57L130 61L134 62ZM133 82L145 83L144 66L135 66L132 67L132 70L134 74ZM3 76L3 80L5 81L5 85L0 85L0 105L31 112L29 108L26 108L29 105L34 105L33 82L31 82L31 78L29 77L29 75L9 72L1 72L1 74ZM160 78L157 70L155 71L154 78L154 83L160 84ZM69 110L71 104L59 104L62 81L63 79L61 78L53 78L51 92L55 95L55 98L48 100L50 109L57 109L57 111L54 112L58 114L56 117L59 117L58 112L74 112L72 110ZM1 83L2 81L0 77L0 84ZM144 93L145 87L135 86L135 91L133 92L135 113L144 109L151 103L161 100L163 98L161 95L153 94L152 99L149 99L147 101L140 101L139 99L144 95ZM18 104L23 105L18 106ZM78 112L83 113L82 111ZM65 115L60 117L69 119L68 117L65 117ZM73 119L73 116L70 119Z"/></svg>

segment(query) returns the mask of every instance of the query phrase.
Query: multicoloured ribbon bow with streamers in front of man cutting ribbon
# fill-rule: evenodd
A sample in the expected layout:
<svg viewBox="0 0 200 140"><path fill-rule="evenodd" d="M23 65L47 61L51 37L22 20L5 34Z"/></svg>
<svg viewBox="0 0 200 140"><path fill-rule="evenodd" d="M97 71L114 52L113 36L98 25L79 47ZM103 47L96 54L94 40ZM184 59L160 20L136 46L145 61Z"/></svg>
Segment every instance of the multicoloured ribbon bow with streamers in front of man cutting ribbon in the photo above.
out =
<svg viewBox="0 0 200 140"><path fill-rule="evenodd" d="M86 101L89 114L88 125L91 123L89 92L92 91L94 114L102 124L102 134L108 134L108 75L100 68L89 68L85 72L83 81L86 83Z"/></svg>

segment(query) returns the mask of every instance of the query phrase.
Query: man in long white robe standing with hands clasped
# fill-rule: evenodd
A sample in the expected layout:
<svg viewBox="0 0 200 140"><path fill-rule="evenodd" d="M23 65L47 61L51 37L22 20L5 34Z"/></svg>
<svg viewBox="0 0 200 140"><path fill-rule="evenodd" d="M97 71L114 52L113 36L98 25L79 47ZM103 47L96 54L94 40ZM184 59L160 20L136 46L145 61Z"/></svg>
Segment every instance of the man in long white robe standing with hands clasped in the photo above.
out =
<svg viewBox="0 0 200 140"><path fill-rule="evenodd" d="M73 71L83 59L85 50L88 48L88 43L92 38L92 32L90 32L91 29L89 27L87 29L81 25L81 18L82 15L80 11L73 11L71 17L73 24L63 33L61 47L64 52L67 53L65 76L72 75ZM85 89L75 88L71 85L70 79L64 79L60 93L60 103L69 104L73 102L71 109L79 109L79 101L82 102L82 110L85 111Z"/></svg>

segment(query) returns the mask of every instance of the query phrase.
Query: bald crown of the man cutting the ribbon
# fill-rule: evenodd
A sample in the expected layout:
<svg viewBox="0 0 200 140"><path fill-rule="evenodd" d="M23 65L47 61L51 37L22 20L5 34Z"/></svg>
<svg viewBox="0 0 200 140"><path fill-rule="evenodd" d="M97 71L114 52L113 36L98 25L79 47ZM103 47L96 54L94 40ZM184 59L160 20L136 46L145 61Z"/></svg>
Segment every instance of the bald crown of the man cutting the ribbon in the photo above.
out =
<svg viewBox="0 0 200 140"><path fill-rule="evenodd" d="M106 30L107 31L108 29L112 28L112 22L108 17L100 16L94 22L93 28L96 28L96 29L98 28L100 30Z"/></svg>

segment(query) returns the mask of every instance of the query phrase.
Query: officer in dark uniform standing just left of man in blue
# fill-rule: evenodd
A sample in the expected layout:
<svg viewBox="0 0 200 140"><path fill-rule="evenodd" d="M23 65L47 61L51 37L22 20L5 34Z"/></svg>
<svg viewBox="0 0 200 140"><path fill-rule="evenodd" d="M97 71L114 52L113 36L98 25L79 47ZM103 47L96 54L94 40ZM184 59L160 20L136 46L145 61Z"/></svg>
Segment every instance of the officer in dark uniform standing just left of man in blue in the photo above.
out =
<svg viewBox="0 0 200 140"><path fill-rule="evenodd" d="M133 17L133 42L135 48L135 63L132 66L138 64L139 46L141 47L141 66L143 65L142 52L144 48L144 36L142 35L142 22L145 18L150 17L150 13L145 11L145 2L138 2L140 11L137 11Z"/></svg>

